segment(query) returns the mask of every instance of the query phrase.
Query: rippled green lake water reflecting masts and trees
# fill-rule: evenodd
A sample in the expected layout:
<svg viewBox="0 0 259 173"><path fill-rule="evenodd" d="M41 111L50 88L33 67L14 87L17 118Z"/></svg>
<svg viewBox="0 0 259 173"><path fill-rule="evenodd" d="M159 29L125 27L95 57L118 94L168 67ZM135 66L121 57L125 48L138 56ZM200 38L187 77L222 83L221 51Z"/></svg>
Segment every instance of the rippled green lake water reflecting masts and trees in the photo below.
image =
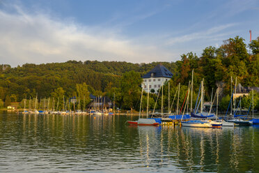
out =
<svg viewBox="0 0 259 173"><path fill-rule="evenodd" d="M259 172L259 126L127 126L137 116L0 114L0 172Z"/></svg>

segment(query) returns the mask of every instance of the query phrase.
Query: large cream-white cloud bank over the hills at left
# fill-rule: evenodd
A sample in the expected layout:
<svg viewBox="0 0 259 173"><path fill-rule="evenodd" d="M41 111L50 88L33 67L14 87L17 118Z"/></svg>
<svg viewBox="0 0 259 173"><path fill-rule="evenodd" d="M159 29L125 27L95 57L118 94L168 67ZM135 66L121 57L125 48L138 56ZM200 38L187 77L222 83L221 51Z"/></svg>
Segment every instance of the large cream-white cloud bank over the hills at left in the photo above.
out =
<svg viewBox="0 0 259 173"><path fill-rule="evenodd" d="M0 63L47 63L75 60L166 61L171 52L154 45L139 45L109 29L82 26L49 15L0 10Z"/></svg>

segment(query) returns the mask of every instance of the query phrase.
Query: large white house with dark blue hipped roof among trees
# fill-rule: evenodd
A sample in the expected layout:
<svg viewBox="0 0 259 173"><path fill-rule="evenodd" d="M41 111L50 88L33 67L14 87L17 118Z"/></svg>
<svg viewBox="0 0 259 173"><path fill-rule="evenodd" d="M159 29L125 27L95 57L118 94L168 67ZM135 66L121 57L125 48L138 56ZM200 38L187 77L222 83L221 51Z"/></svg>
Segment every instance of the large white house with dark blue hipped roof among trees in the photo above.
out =
<svg viewBox="0 0 259 173"><path fill-rule="evenodd" d="M154 89L155 93L157 93L159 88L162 87L162 84L171 80L171 77L173 77L173 73L160 63L146 75L143 75L143 84L141 87L143 87L144 91L148 92L149 85L149 92Z"/></svg>

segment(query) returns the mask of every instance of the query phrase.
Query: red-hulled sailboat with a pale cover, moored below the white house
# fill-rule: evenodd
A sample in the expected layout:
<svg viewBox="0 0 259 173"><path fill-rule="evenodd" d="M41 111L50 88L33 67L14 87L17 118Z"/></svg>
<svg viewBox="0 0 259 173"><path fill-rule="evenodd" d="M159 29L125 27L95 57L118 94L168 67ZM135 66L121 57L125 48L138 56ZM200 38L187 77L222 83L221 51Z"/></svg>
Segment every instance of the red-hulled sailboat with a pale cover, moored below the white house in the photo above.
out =
<svg viewBox="0 0 259 173"><path fill-rule="evenodd" d="M148 84L148 93L149 93L149 84ZM141 119L141 105L142 105L142 97L143 97L143 87L141 91L141 104L139 108L139 119L137 121L127 121L130 125L138 125L138 126L159 126L159 123L155 121L155 119L148 119L148 109L147 109L147 118Z"/></svg>

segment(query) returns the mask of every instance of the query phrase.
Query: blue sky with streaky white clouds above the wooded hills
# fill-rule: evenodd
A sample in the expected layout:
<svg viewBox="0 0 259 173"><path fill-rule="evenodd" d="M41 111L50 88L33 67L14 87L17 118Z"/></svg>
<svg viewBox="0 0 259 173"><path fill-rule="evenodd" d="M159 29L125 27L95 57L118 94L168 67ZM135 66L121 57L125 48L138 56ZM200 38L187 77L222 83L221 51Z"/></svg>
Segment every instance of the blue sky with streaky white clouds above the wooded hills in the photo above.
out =
<svg viewBox="0 0 259 173"><path fill-rule="evenodd" d="M0 0L0 64L174 62L258 28L258 0Z"/></svg>

